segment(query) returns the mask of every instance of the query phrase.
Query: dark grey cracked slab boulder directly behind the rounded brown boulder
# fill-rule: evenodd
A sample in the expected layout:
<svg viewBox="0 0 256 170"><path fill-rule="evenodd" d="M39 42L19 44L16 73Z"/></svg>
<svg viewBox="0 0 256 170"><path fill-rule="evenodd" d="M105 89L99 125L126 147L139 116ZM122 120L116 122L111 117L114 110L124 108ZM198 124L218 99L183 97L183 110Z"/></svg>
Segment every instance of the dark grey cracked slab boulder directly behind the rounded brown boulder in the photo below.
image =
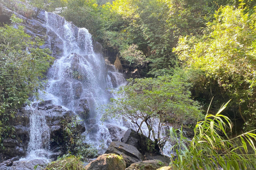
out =
<svg viewBox="0 0 256 170"><path fill-rule="evenodd" d="M123 142L111 142L106 154L122 155L125 159L126 166L130 166L132 163L141 162L144 157L137 148L132 145L127 145Z"/></svg>

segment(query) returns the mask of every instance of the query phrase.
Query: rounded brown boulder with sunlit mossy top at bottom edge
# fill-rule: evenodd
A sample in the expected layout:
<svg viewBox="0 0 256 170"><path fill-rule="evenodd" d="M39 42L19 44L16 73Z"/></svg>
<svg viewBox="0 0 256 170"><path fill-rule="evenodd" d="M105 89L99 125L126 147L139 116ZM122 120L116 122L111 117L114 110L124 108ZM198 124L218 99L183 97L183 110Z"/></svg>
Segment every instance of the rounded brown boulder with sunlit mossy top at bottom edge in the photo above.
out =
<svg viewBox="0 0 256 170"><path fill-rule="evenodd" d="M85 166L85 170L124 170L125 160L115 154L103 154L90 164Z"/></svg>

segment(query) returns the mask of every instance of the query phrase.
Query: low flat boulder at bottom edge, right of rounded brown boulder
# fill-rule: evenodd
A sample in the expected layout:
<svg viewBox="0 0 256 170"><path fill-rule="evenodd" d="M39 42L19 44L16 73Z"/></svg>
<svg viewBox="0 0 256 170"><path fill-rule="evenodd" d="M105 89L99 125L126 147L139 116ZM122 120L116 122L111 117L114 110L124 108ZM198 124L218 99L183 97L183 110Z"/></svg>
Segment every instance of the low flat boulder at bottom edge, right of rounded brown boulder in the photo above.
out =
<svg viewBox="0 0 256 170"><path fill-rule="evenodd" d="M163 166L164 163L160 160L145 160L143 162L134 163L125 170L156 170Z"/></svg>

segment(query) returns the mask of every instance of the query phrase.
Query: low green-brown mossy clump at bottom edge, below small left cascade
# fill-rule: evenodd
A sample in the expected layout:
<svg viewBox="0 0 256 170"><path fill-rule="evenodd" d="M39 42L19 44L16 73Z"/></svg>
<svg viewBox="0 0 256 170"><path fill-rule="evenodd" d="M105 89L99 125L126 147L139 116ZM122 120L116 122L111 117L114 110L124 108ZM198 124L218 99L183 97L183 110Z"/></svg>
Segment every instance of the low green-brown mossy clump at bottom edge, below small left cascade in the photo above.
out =
<svg viewBox="0 0 256 170"><path fill-rule="evenodd" d="M48 164L44 170L83 170L84 166L79 158L73 155L63 156L62 158Z"/></svg>

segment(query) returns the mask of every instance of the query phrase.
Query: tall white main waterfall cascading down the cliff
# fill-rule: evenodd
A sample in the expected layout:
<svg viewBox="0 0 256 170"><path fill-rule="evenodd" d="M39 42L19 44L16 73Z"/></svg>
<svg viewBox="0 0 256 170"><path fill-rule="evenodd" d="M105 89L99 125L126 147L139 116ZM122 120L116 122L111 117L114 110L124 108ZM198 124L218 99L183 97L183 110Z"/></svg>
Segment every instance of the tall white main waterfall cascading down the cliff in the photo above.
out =
<svg viewBox="0 0 256 170"><path fill-rule="evenodd" d="M85 28L77 28L59 15L45 12L49 44L59 49L57 60L47 73L48 83L44 100L52 100L85 118L87 140L96 147L111 142L105 124L100 121L98 107L107 104L112 96L110 88L125 83L114 66L106 65L101 53L95 53L93 40ZM58 46L58 47L57 47ZM90 113L85 108L89 108Z"/></svg>

